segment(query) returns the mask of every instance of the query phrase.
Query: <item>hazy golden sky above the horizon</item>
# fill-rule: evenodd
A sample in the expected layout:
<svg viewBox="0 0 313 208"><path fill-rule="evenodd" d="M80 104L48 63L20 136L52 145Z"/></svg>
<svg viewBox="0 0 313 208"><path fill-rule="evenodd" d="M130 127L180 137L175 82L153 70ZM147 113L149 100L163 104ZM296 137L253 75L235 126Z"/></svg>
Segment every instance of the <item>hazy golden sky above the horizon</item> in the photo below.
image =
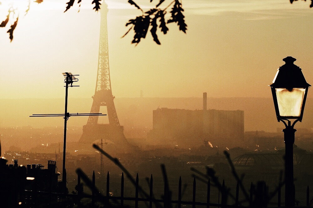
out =
<svg viewBox="0 0 313 208"><path fill-rule="evenodd" d="M6 5L1 0L0 21ZM63 98L62 72L80 74L69 96L90 98L95 91L100 13L82 0L64 13L67 0L32 3L20 14L10 43L0 28L0 98ZM143 8L148 0L136 0ZM156 1L154 1L155 3ZM115 97L270 97L276 69L293 56L308 83L312 73L310 1L183 0L187 34L171 23L167 35L151 34L138 46L125 38L125 23L141 12L127 0L107 1L109 57ZM26 1L27 3L27 1ZM21 10L23 11L23 10ZM309 92L309 97L313 93Z"/></svg>

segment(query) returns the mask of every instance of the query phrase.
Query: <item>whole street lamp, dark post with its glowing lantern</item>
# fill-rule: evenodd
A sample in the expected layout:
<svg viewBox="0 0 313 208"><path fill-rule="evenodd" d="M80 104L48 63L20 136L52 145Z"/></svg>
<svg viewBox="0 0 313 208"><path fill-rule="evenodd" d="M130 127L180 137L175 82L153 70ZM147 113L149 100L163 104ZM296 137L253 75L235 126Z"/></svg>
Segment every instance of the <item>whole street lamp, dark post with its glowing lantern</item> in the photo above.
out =
<svg viewBox="0 0 313 208"><path fill-rule="evenodd" d="M294 177L293 177L293 143L295 142L295 123L302 121L306 96L309 85L299 66L293 62L296 59L287 56L283 59L285 64L277 69L272 90L277 121L285 124L285 206L293 207ZM289 119L295 119L291 124Z"/></svg>

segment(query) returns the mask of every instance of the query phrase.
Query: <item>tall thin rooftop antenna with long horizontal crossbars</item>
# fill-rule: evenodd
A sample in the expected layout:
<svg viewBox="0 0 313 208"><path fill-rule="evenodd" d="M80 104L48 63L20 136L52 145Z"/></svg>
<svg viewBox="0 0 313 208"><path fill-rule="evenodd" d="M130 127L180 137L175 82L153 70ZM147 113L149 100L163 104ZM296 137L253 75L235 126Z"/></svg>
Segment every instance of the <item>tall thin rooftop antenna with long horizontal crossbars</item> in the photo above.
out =
<svg viewBox="0 0 313 208"><path fill-rule="evenodd" d="M66 152L66 125L67 120L71 116L106 116L106 114L102 113L89 113L89 114L70 114L67 112L67 97L68 97L68 88L70 87L79 87L79 85L73 85L74 82L78 82L78 79L70 72L62 73L64 75L64 83L65 83L65 111L64 114L33 114L29 117L58 117L64 116L64 143L63 143L63 170L62 170L62 183L64 187L64 191L66 189L66 170L65 170L65 152Z"/></svg>

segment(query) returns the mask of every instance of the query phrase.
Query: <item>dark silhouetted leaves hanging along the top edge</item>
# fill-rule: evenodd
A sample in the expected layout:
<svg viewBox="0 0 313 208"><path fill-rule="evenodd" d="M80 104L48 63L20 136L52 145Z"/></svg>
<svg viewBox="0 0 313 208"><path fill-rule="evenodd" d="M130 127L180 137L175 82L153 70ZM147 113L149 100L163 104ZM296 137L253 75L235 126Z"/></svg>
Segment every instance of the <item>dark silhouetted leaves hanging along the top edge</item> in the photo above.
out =
<svg viewBox="0 0 313 208"><path fill-rule="evenodd" d="M31 1L40 4L44 0L28 0L28 6L25 9L25 15L29 11ZM103 0L93 0L91 2L91 4L94 6L93 9L95 11L99 11L99 9L101 8L101 1ZM149 1L149 0L146 0L146 1ZM294 1L298 1L298 0L289 0L289 1L290 3L293 3ZM302 0L302 1L306 1L306 0ZM313 7L313 0L310 0L310 1L311 1L310 7ZM68 11L74 5L75 2L79 5L79 8L80 8L82 0L68 0L68 2L66 3L64 12ZM131 41L131 43L135 43L137 45L141 41L141 38L146 38L148 30L149 28L151 28L150 32L151 32L151 36L153 37L153 41L155 41L158 45L160 45L161 43L158 39L158 36L156 35L158 26L161 29L161 32L163 34L167 34L167 31L168 31L167 24L172 23L172 22L177 23L179 30L186 33L187 24L185 23L185 20L184 20L185 16L182 13L184 11L184 9L182 8L182 0L150 0L150 3L152 2L153 3L157 2L155 7L152 7L150 10L144 12L135 1L128 0L128 3L135 6L137 9L141 10L142 12L141 16L137 16L135 19L130 19L126 23L126 27L127 26L131 26L131 27L128 29L128 31L125 33L124 36L126 36L126 34L128 34L129 31L131 31L132 29L135 32L134 39ZM163 9L159 8L159 6L164 5L164 2L170 2L170 3ZM1 5L1 2L0 2L0 5ZM171 7L171 11L170 11L171 17L170 19L166 21L164 16L166 14L167 9L170 7ZM78 10L78 12L79 11L80 10ZM13 31L16 28L17 23L18 23L18 14L16 12L16 9L13 9L12 6L8 9L8 14L6 18L3 20L3 22L0 24L0 27L6 27L10 19L12 19L11 21L13 21L14 23L11 25L7 33L9 33L9 38L10 38L10 41L12 42Z"/></svg>

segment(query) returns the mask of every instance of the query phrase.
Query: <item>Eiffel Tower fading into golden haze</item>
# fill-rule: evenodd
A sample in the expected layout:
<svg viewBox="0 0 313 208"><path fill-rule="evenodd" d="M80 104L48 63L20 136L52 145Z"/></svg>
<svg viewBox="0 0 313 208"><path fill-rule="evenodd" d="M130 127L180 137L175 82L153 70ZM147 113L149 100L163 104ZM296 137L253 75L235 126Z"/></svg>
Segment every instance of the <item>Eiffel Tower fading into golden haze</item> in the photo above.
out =
<svg viewBox="0 0 313 208"><path fill-rule="evenodd" d="M100 21L100 41L99 59L95 95L92 96L93 103L91 113L99 113L100 106L106 106L109 124L98 124L98 116L89 116L87 124L83 126L83 134L80 143L92 143L98 139L109 140L119 146L125 146L127 140L123 133L123 126L117 118L114 96L112 95L109 49L108 49L108 30L107 30L108 6L104 2L101 9Z"/></svg>

